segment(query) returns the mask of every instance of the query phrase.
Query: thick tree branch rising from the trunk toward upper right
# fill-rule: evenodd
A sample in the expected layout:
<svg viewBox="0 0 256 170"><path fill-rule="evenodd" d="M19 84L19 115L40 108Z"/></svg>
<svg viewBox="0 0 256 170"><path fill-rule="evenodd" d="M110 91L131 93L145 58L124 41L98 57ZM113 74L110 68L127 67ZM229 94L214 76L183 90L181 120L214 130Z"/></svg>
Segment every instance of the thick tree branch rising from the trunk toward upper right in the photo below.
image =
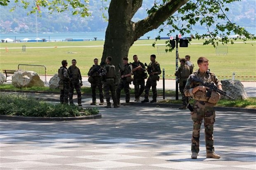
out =
<svg viewBox="0 0 256 170"><path fill-rule="evenodd" d="M145 33L158 28L169 16L174 14L180 7L185 5L189 0L170 0L165 5L160 7L156 12L150 14L147 18L133 23L135 32L134 41Z"/></svg>

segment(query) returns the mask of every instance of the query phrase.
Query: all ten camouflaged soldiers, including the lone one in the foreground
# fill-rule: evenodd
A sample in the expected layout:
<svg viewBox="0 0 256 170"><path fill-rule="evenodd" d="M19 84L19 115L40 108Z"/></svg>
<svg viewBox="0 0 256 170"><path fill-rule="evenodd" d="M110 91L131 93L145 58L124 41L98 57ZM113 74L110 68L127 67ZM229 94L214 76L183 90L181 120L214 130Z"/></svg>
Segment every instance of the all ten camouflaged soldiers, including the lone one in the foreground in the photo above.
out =
<svg viewBox="0 0 256 170"><path fill-rule="evenodd" d="M140 100L140 95L145 91L145 99L142 102L149 102L149 90L152 87L153 100L156 102L157 91L156 82L159 80L161 69L159 63L156 62L156 56L150 56L149 65L147 66L138 60L138 56L133 56L133 63L128 63L128 58L122 59L123 65L119 66L120 82L116 88L116 68L111 64L112 57L107 57L105 63L98 64L98 59L94 59L94 65L90 68L88 81L92 88L92 103L96 105L96 88L100 92L100 105L104 104L104 96L107 101L106 108L111 108L110 97L112 97L114 107L120 107L120 94L124 88L126 93L126 102L123 105L129 105L130 102L130 88L129 85L133 82L135 86L135 101ZM194 65L190 61L190 56L179 58L180 67L175 72L178 77L180 92L182 94L183 106L179 109L186 109L189 98L194 99L194 104L191 111L191 119L193 123L192 144L191 144L191 158L197 159L199 153L199 137L201 123L204 120L205 141L206 141L206 158L220 158L214 151L213 146L213 124L215 122L214 105L220 99L219 93L211 92L211 96L206 94L206 87L201 82L214 83L218 89L222 89L220 80L209 71L209 60L205 57L199 57L197 60L198 70L193 72ZM79 68L76 67L76 60L72 60L72 65L67 67L67 61L62 61L62 67L59 68L59 88L61 89L60 102L63 104L73 104L73 90L76 89L78 95L78 105L81 106L81 86L82 77ZM145 68L147 66L147 68ZM147 75L149 74L149 76ZM134 76L132 78L132 75ZM148 77L146 86L145 79ZM196 77L196 79L193 79ZM104 94L103 94L104 91ZM111 92L111 96L110 96Z"/></svg>

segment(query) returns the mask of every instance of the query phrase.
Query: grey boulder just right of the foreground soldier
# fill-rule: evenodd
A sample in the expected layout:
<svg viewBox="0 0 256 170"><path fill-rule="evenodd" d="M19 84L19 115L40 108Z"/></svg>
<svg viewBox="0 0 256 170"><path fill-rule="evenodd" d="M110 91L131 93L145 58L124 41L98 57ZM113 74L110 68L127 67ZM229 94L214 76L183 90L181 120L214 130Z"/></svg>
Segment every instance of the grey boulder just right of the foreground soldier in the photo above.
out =
<svg viewBox="0 0 256 170"><path fill-rule="evenodd" d="M239 80L221 80L222 89L227 95L237 99L247 99L248 95L244 90L244 85ZM226 96L221 96L223 99L229 99Z"/></svg>

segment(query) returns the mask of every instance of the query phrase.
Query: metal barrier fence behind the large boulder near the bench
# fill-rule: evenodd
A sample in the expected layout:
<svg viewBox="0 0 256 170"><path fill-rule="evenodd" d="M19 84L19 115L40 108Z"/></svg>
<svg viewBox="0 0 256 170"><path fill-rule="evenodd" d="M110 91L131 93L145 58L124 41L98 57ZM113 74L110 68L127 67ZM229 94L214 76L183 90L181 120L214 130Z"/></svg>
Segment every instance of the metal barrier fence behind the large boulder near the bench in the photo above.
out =
<svg viewBox="0 0 256 170"><path fill-rule="evenodd" d="M18 70L24 70L24 71L33 71L36 72L40 79L47 84L46 81L46 67L44 65L29 65L29 64L19 64Z"/></svg>

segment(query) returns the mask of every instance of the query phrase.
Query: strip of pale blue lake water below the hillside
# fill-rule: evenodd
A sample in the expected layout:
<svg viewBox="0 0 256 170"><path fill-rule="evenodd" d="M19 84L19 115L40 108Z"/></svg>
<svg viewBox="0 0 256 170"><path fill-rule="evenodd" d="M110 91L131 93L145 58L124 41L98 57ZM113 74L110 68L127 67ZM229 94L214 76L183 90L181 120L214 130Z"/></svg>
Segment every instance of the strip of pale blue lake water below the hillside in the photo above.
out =
<svg viewBox="0 0 256 170"><path fill-rule="evenodd" d="M255 28L247 28L247 30L255 34L256 30ZM199 30L199 33L204 33L206 30ZM142 37L140 39L147 39L147 37L150 37L150 39L154 39L159 33L159 30L152 30ZM167 37L168 30L164 30L163 33L161 33L161 37ZM178 33L177 33L178 34ZM176 34L173 34L175 37ZM23 40L24 38L29 38L30 40L35 40L37 37L36 33L0 33L0 40L10 38L12 40ZM47 41L62 41L69 38L72 39L83 39L83 40L94 40L94 37L97 37L97 40L104 40L105 39L105 32L84 32L84 33L38 33L38 38L45 39Z"/></svg>

